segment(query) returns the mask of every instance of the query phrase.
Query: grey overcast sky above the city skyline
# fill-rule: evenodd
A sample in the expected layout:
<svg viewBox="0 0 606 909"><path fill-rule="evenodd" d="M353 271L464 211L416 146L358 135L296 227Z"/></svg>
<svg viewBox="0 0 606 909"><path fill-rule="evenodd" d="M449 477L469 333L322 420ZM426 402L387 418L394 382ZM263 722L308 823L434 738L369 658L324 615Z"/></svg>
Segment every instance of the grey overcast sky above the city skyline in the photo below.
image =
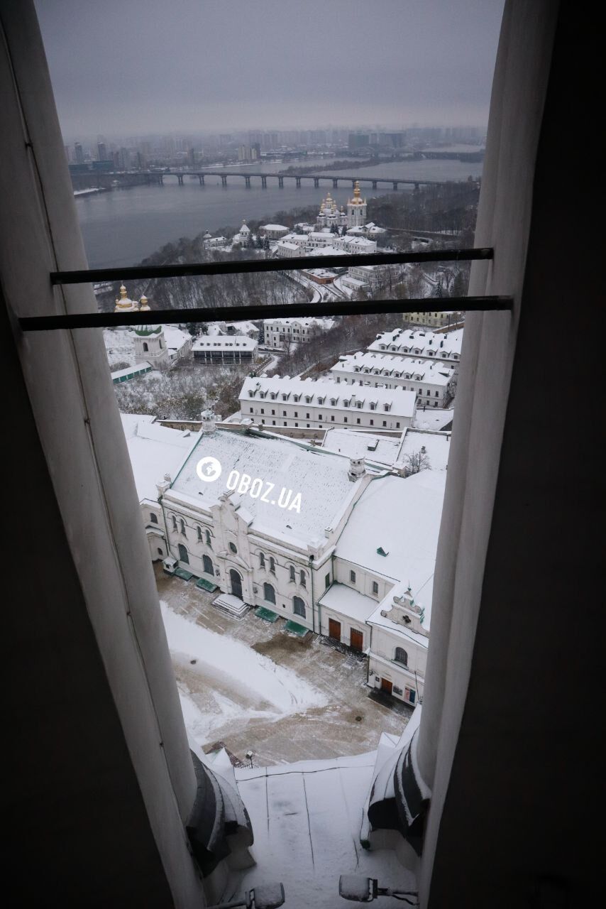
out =
<svg viewBox="0 0 606 909"><path fill-rule="evenodd" d="M65 139L486 124L502 0L36 0Z"/></svg>

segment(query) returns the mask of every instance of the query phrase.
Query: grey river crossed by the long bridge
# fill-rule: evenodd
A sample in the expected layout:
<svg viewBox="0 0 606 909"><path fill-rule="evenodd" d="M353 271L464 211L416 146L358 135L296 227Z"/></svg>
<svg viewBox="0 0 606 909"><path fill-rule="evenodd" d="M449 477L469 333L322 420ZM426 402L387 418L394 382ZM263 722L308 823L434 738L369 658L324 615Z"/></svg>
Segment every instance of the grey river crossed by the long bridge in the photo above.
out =
<svg viewBox="0 0 606 909"><path fill-rule="evenodd" d="M309 157L301 165L328 163L326 158ZM254 163L243 166L242 170L243 173L247 169L257 174L276 173L290 164L292 162ZM226 169L235 170L236 166L230 165ZM412 180L466 180L470 175L482 175L482 163L395 161L373 167L354 165L344 170L331 169L327 173L360 175L369 179L379 176ZM204 186L190 177L185 177L184 185L179 186L174 177L170 177L161 186L131 186L107 193L76 196L75 205L89 266L107 268L136 265L179 237L193 237L206 230L214 234L226 225L242 224L243 218L271 219L277 212L308 205L319 207L329 191L340 205L345 205L352 195L351 186L340 185L333 189L328 182L323 182L316 188L311 180L304 180L300 187L296 187L293 180L285 180L283 187L279 188L277 181L270 179L267 187L262 188L259 180L254 178L250 187L236 178L228 180L224 187L218 176L206 177ZM404 189L392 190L389 186L373 190L364 185L362 191L367 198L407 192Z"/></svg>

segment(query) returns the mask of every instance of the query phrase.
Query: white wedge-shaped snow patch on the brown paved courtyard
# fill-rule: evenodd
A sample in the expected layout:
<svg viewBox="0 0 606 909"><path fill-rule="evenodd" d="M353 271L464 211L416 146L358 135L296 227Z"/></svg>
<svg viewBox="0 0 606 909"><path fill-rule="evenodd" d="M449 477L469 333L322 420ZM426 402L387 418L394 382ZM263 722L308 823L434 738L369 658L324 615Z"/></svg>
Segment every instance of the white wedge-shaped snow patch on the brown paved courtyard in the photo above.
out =
<svg viewBox="0 0 606 909"><path fill-rule="evenodd" d="M181 686L185 724L201 744L208 742L215 729L236 717L242 723L258 718L277 719L326 704L325 695L291 669L275 664L228 635L215 634L176 614L164 600L160 605L174 660L184 666L197 666L190 669L190 674L202 671L214 683L212 712L205 709L204 714L186 684Z"/></svg>

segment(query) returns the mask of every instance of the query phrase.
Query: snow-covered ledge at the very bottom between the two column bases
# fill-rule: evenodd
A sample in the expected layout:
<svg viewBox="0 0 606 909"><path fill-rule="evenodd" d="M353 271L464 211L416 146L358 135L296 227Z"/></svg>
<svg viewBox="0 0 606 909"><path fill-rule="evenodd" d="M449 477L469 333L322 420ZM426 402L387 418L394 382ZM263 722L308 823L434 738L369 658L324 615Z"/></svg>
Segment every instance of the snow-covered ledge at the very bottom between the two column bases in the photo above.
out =
<svg viewBox="0 0 606 909"><path fill-rule="evenodd" d="M279 880L286 893L285 905L334 909L339 874L354 871L378 878L380 884L397 883L416 891L414 875L402 867L393 850L360 848L363 805L373 783L375 757L373 752L261 769L237 768L238 790L255 837L255 864L242 873L240 889ZM402 901L382 897L382 909L396 906L402 906Z"/></svg>

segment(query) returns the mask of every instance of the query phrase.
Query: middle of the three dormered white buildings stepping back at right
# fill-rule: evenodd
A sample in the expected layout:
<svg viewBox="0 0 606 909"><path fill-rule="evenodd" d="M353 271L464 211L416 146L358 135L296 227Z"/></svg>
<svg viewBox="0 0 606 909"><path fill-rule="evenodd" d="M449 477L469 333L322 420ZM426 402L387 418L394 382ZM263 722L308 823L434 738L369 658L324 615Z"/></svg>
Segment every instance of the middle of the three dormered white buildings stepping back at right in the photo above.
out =
<svg viewBox="0 0 606 909"><path fill-rule="evenodd" d="M335 382L374 388L402 388L417 396L417 405L449 406L456 387L451 365L370 351L343 355L331 368Z"/></svg>

